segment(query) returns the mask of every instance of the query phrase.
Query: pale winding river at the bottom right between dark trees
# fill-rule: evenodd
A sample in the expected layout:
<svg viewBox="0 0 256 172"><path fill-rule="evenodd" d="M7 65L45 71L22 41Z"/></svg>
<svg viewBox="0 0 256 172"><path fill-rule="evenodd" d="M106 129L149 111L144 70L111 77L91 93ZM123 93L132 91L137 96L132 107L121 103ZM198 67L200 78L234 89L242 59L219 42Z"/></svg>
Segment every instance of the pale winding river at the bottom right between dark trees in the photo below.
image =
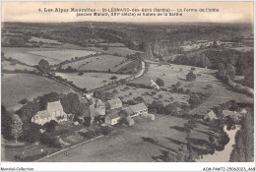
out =
<svg viewBox="0 0 256 172"><path fill-rule="evenodd" d="M197 159L197 162L228 162L229 156L232 151L232 145L235 143L234 137L236 132L240 129L240 126L236 126L234 130L227 131L226 126L224 126L224 132L230 139L227 144L224 145L224 150L216 150L214 154L203 155L203 158Z"/></svg>

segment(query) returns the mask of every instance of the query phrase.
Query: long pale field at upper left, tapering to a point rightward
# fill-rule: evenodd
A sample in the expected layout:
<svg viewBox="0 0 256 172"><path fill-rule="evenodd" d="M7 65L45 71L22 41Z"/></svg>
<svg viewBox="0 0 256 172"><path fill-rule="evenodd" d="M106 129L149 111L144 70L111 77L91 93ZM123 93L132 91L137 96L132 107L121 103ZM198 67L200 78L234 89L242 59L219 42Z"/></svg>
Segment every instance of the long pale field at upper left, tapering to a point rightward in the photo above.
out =
<svg viewBox="0 0 256 172"><path fill-rule="evenodd" d="M37 65L41 59L45 59L50 65L58 64L74 57L95 54L95 51L58 49L58 48L17 48L3 47L6 57L12 57L29 65Z"/></svg>

